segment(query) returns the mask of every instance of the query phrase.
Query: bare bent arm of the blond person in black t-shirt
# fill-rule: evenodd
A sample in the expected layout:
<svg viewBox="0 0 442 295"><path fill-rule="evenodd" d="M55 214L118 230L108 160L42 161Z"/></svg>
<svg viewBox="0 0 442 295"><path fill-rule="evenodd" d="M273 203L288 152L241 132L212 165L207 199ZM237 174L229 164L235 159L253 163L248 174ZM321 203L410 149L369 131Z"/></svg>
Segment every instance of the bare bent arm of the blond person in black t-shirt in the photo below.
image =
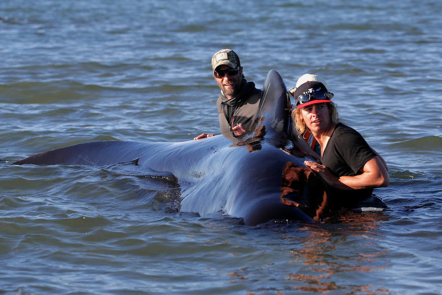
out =
<svg viewBox="0 0 442 295"><path fill-rule="evenodd" d="M359 190L386 187L390 182L386 166L379 157L368 160L356 176L334 176L330 170L319 163L304 161L305 166L317 172L331 187L340 190Z"/></svg>

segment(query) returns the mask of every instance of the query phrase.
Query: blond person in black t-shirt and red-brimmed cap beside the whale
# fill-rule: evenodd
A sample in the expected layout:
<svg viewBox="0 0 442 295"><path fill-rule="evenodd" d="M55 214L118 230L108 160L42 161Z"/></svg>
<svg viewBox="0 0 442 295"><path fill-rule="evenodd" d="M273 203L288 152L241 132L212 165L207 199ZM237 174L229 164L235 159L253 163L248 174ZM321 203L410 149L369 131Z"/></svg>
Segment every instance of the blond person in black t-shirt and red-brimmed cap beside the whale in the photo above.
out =
<svg viewBox="0 0 442 295"><path fill-rule="evenodd" d="M290 89L296 109L292 119L298 133L311 132L320 146L322 163L304 161L332 188L332 198L344 207L371 196L389 183L387 165L354 129L339 123L333 94L324 79L304 74Z"/></svg>

